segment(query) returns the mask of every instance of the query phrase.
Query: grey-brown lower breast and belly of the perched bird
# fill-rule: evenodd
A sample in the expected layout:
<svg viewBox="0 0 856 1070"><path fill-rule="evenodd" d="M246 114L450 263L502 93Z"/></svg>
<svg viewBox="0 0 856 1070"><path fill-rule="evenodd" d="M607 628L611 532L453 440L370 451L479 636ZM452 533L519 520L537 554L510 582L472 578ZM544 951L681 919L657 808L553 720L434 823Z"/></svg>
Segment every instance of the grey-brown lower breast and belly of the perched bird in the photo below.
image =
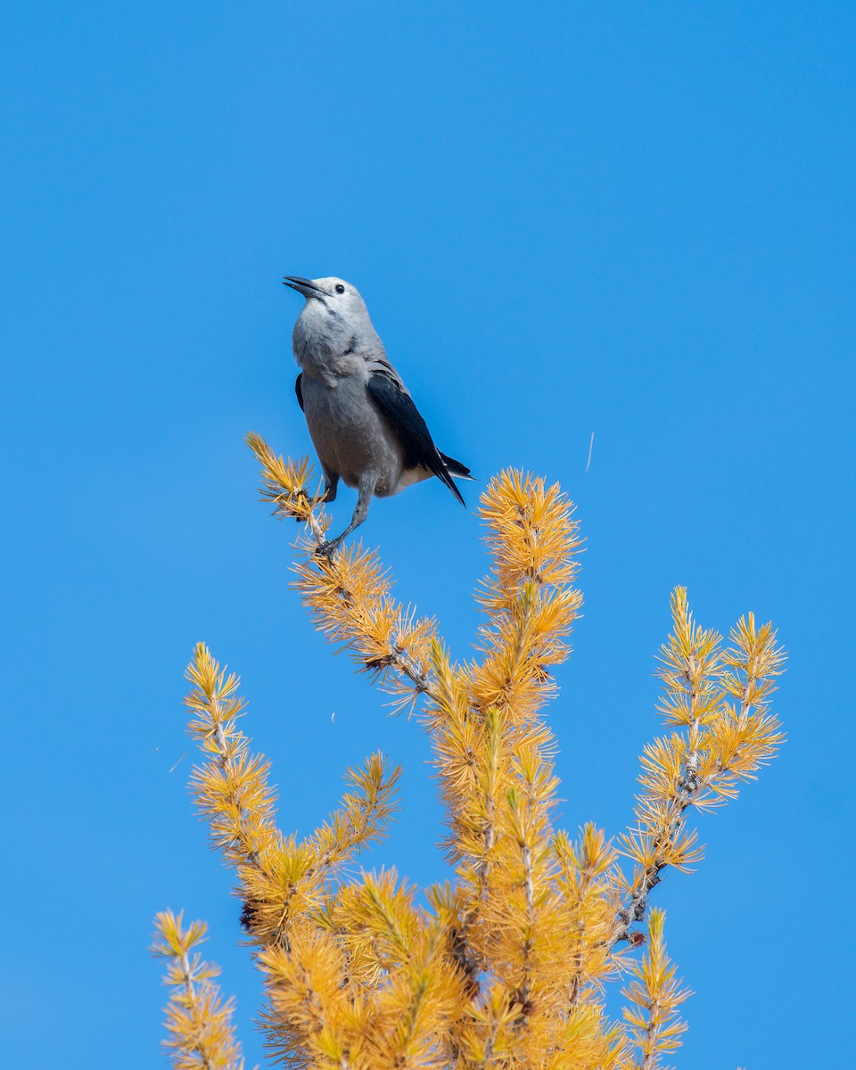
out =
<svg viewBox="0 0 856 1070"><path fill-rule="evenodd" d="M327 385L308 369L302 379L306 424L319 460L349 487L363 478L374 484L376 494L394 494L404 449L368 396L366 371L361 368L334 382Z"/></svg>

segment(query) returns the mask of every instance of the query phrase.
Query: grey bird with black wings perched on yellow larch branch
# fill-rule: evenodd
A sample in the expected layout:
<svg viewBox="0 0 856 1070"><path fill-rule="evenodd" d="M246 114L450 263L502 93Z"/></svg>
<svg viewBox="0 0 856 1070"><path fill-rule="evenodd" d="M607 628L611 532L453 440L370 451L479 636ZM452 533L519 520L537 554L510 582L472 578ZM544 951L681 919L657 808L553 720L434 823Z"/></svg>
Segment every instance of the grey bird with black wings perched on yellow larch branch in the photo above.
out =
<svg viewBox="0 0 856 1070"><path fill-rule="evenodd" d="M434 445L356 289L341 278L282 281L306 299L292 335L294 389L324 472L322 501L336 498L339 479L360 491L350 524L318 552L332 554L363 523L372 494L435 475L463 505L453 476L472 479L470 470Z"/></svg>

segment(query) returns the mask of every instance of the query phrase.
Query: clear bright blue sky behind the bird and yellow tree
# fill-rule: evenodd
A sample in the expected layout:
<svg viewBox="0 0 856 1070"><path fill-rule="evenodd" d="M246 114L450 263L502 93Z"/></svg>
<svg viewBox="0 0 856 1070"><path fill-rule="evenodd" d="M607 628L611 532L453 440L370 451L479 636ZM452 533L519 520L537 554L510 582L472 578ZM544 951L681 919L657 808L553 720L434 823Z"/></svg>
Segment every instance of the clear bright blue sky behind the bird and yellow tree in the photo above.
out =
<svg viewBox="0 0 856 1070"><path fill-rule="evenodd" d="M404 811L371 865L443 875L427 743L312 630L257 502L245 431L310 448L286 273L362 290L441 448L578 503L566 825L630 817L674 584L779 626L786 748L655 897L697 993L676 1061L845 1063L853 4L29 0L0 31L3 1065L157 1064L165 906L210 921L263 1057L186 793L199 639L286 828L380 747ZM458 656L480 534L435 480L364 529Z"/></svg>

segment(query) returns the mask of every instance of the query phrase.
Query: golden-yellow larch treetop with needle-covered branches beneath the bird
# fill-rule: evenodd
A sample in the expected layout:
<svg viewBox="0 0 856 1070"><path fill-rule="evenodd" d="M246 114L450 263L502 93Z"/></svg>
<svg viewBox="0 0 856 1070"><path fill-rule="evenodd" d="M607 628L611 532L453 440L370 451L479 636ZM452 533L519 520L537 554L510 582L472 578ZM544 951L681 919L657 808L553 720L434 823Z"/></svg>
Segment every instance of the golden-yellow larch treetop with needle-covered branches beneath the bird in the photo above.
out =
<svg viewBox="0 0 856 1070"><path fill-rule="evenodd" d="M239 682L197 646L187 704L203 762L192 788L236 872L272 1056L317 1070L654 1070L679 1044L688 993L649 896L666 868L701 857L692 809L732 799L782 740L769 712L783 668L770 625L749 614L725 643L675 591L660 670L668 734L644 749L632 826L615 844L594 825L571 837L553 823L555 746L544 718L582 606L578 524L559 487L504 472L486 488L485 618L477 656L454 661L435 623L395 599L376 554L314 552L328 521L308 463L275 456L258 435L248 443L262 499L305 524L295 586L317 627L396 709L418 706L454 872L418 890L394 869L348 868L395 812L400 770L380 754L348 770L339 807L311 836L281 832L270 765L239 728ZM180 919L160 918L170 983L186 987L174 963L195 941ZM606 993L627 978L613 1020ZM221 1033L224 1012L211 1008ZM173 1048L189 1037L177 1022Z"/></svg>

